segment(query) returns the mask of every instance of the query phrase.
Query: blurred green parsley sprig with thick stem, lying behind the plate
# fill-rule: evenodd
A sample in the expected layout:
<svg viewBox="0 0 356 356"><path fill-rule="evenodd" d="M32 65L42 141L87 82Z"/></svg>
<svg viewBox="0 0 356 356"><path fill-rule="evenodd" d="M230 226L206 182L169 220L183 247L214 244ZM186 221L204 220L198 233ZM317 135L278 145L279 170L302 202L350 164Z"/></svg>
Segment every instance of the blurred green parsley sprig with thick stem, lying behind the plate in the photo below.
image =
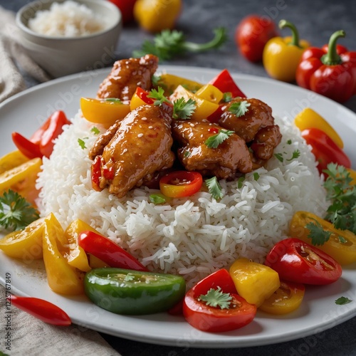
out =
<svg viewBox="0 0 356 356"><path fill-rule="evenodd" d="M167 61L185 53L198 53L221 47L227 40L226 28L214 29L214 38L206 43L186 41L183 31L163 30L155 35L153 41L146 40L140 50L133 51L132 56L138 58L146 54L153 54L161 61Z"/></svg>

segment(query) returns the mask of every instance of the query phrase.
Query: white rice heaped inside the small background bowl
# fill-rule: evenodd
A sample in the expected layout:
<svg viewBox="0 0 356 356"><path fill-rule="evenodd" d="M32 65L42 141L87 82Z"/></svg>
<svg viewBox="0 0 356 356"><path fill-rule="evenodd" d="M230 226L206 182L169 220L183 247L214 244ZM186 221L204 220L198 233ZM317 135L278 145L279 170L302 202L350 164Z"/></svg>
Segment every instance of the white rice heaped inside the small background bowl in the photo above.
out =
<svg viewBox="0 0 356 356"><path fill-rule="evenodd" d="M103 30L104 19L84 4L75 1L54 2L49 10L37 11L28 20L28 28L46 36L78 37Z"/></svg>

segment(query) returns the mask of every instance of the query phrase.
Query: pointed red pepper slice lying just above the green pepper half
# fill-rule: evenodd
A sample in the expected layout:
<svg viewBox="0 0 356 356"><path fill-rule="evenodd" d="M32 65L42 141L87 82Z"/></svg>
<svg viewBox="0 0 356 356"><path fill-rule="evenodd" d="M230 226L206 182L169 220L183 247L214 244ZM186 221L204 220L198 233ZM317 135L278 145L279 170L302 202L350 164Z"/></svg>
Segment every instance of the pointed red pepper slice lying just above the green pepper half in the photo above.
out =
<svg viewBox="0 0 356 356"><path fill-rule="evenodd" d="M78 234L78 245L85 252L91 253L110 267L148 271L137 259L115 244L107 237L93 231L82 231Z"/></svg>

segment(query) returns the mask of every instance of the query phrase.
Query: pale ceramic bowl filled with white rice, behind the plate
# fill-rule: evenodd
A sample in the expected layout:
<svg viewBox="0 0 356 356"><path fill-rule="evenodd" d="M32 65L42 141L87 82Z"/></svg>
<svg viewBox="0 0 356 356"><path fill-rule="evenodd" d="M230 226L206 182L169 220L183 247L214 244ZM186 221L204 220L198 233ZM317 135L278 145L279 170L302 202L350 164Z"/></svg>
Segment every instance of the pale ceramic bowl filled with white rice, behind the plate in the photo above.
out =
<svg viewBox="0 0 356 356"><path fill-rule="evenodd" d="M112 64L122 16L105 0L37 0L19 10L16 24L29 56L58 78Z"/></svg>

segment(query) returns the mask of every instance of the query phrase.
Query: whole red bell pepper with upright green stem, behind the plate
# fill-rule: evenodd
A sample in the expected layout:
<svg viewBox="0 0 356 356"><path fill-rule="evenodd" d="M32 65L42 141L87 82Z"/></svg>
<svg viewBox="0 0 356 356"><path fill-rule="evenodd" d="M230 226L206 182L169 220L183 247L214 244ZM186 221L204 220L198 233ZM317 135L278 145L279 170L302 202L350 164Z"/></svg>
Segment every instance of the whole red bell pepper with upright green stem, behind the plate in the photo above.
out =
<svg viewBox="0 0 356 356"><path fill-rule="evenodd" d="M339 103L356 94L356 52L337 45L345 31L336 31L323 48L307 48L296 71L300 87L313 90Z"/></svg>

